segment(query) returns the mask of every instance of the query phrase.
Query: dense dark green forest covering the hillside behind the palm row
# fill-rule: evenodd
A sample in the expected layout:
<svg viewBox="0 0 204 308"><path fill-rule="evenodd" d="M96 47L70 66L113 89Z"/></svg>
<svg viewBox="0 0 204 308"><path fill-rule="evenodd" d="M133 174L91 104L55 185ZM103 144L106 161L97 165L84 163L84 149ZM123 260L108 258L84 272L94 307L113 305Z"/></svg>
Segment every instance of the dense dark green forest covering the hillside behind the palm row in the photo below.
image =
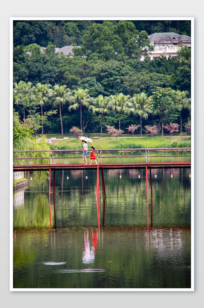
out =
<svg viewBox="0 0 204 308"><path fill-rule="evenodd" d="M191 50L182 48L178 57L160 57L150 60L148 51L152 50L148 35L154 32L175 32L191 36L190 20L14 20L13 21L13 83L24 85L55 85L73 94L78 89L88 89L90 98L99 95L129 95L144 93L147 97L157 87L169 88L187 93L191 97ZM74 46L73 54L65 56L56 53L55 48ZM29 53L28 53L29 52ZM143 57L144 61L141 61ZM15 90L17 93L17 90ZM33 91L33 90L32 90ZM48 92L49 92L48 91ZM34 93L34 92L33 92ZM16 94L17 95L17 94ZM18 93L19 95L19 93ZM28 94L26 94L28 95ZM50 94L51 95L51 94ZM54 97L54 96L53 96ZM53 98L52 97L52 98ZM28 98L27 98L28 99ZM15 96L14 108L21 120L29 117L29 106L22 104L22 97ZM38 98L36 98L36 102ZM40 100L39 100L40 102ZM53 112L44 120L44 132L60 132L62 122L64 132L71 126L80 127L79 109L69 108L69 99L62 106L53 107L51 98L47 103L39 103L41 112ZM36 103L37 104L37 103ZM42 111L42 106L43 110ZM60 108L60 118L59 118ZM83 107L83 121L88 121L87 131L101 126L101 115ZM36 109L37 110L37 109ZM33 111L32 111L33 112ZM190 116L189 110L181 108L174 115L165 118L184 122ZM33 113L34 116L34 113ZM104 115L104 127L118 123L118 114ZM128 124L138 124L139 117L121 114L121 128ZM52 120L51 120L52 118ZM148 120L154 118L153 113ZM166 122L165 122L166 121ZM92 123L90 125L90 122ZM84 124L84 125L85 125ZM40 124L38 125L40 132Z"/></svg>

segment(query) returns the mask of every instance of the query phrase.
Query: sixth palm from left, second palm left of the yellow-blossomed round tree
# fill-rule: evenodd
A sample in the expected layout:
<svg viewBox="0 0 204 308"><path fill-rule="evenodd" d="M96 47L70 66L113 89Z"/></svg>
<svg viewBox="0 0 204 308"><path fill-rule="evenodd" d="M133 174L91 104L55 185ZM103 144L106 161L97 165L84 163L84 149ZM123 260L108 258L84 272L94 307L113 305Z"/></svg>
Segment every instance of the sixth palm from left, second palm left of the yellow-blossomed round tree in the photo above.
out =
<svg viewBox="0 0 204 308"><path fill-rule="evenodd" d="M107 107L119 113L119 129L121 127L121 113L129 114L129 108L132 104L129 102L130 95L119 93L118 95L110 95L110 101Z"/></svg>

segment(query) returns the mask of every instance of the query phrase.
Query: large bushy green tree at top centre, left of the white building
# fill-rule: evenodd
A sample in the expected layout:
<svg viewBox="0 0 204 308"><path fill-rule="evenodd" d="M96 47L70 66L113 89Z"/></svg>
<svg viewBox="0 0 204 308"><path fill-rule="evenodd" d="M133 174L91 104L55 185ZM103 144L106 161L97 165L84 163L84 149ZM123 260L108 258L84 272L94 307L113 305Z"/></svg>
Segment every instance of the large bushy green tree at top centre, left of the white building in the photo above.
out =
<svg viewBox="0 0 204 308"><path fill-rule="evenodd" d="M149 43L148 33L136 30L133 22L104 20L90 26L78 52L88 59L138 61L152 50Z"/></svg>

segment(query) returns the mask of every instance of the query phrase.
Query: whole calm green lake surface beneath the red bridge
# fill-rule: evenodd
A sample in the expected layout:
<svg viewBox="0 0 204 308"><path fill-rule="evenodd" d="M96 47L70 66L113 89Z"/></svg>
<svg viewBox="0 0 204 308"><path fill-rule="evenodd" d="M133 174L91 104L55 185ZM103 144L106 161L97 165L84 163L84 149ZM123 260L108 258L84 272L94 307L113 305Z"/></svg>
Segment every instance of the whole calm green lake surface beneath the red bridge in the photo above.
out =
<svg viewBox="0 0 204 308"><path fill-rule="evenodd" d="M145 170L104 170L99 224L96 170L56 171L52 229L48 180L25 173L29 186L13 194L13 288L191 288L190 173L152 169L147 212Z"/></svg>

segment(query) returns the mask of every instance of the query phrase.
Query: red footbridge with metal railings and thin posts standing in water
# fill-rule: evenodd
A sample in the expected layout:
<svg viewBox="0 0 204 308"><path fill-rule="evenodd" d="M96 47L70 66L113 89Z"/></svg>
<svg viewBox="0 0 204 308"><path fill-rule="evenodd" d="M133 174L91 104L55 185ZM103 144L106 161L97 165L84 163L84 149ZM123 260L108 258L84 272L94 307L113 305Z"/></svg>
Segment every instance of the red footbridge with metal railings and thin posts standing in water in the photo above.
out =
<svg viewBox="0 0 204 308"><path fill-rule="evenodd" d="M102 153L105 152L122 152L123 155L102 155ZM133 155L135 152L144 152L144 155ZM149 152L159 152L162 154L158 155L150 155ZM177 154L169 154L169 152L176 152ZM82 150L39 150L39 151L13 151L14 153L26 153L25 157L16 157L14 158L15 162L18 160L23 160L28 162L28 164L19 164L19 165L13 165L13 172L15 171L49 171L49 210L50 210L50 228L52 228L51 225L51 205L50 205L50 195L53 193L53 198L55 199L55 172L56 170L83 170L83 169L96 169L97 171L97 180L96 180L96 206L97 206L97 216L98 216L98 226L100 228L100 201L99 201L99 193L102 193L103 196L103 221L105 221L105 205L106 205L106 190L105 190L105 182L104 182L104 174L103 170L105 169L146 169L146 193L147 193L147 213L148 213L148 192L151 192L151 213L152 213L152 173L151 169L158 169L158 168L191 168L191 161L174 161L171 162L171 159L176 160L179 157L179 160L182 160L182 158L189 157L191 154L178 154L178 152L191 152L191 148L147 148L147 149L100 149L96 150L95 153L96 159L98 164L59 164L56 163L55 160L60 159L82 159L82 156L67 156L67 157L56 157L54 154L56 152L80 152L82 154ZM48 153L49 156L43 156L43 157L31 157L31 154L33 152L42 152L44 154ZM124 153L129 155L124 155ZM38 153L39 154L39 153ZM19 155L19 154L18 154ZM21 156L22 154L20 154ZM14 156L17 156L14 154ZM144 162L131 162L131 157L139 157L140 160L144 160ZM167 160L167 157L170 161L161 161L161 162L150 162L149 160L153 159L153 157L160 157L160 160ZM128 158L130 162L124 163L124 162L114 162L114 163L105 163L102 162L104 159L110 159L114 158L115 160L120 160L124 158ZM88 157L87 157L88 159ZM43 164L33 164L34 160L44 160ZM102 172L102 191L99 191L99 169ZM149 169L149 176L150 176L150 187L151 189L148 190L148 169ZM54 171L54 185L53 185L53 192L51 192L51 171ZM55 202L54 202L54 212L55 212ZM148 221L148 217L147 217Z"/></svg>

